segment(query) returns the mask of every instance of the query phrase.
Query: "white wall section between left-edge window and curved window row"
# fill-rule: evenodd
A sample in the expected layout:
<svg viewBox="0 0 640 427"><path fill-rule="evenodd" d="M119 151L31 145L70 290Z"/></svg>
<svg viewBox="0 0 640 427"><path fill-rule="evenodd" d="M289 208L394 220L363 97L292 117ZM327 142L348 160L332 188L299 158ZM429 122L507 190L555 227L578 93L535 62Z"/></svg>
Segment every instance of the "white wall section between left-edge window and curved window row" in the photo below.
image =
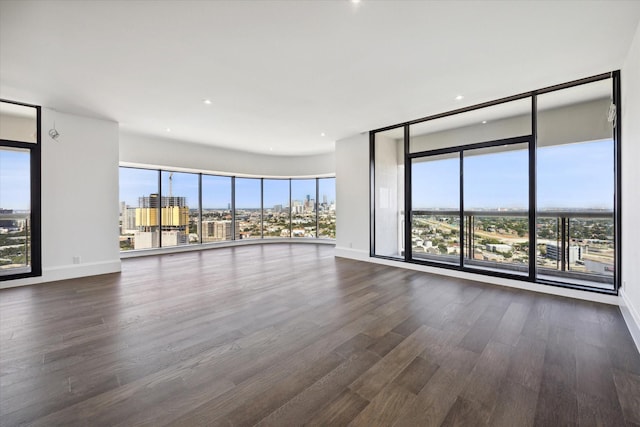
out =
<svg viewBox="0 0 640 427"><path fill-rule="evenodd" d="M120 271L118 124L43 108L42 135L43 275L3 288Z"/></svg>

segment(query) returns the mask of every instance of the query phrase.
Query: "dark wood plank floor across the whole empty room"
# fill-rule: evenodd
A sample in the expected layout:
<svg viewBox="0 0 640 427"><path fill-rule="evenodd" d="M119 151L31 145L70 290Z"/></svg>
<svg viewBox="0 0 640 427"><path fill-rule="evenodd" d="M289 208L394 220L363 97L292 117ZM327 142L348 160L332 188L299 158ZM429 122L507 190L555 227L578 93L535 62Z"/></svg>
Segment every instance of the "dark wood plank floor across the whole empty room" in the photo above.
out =
<svg viewBox="0 0 640 427"><path fill-rule="evenodd" d="M273 244L0 291L2 426L640 425L617 307Z"/></svg>

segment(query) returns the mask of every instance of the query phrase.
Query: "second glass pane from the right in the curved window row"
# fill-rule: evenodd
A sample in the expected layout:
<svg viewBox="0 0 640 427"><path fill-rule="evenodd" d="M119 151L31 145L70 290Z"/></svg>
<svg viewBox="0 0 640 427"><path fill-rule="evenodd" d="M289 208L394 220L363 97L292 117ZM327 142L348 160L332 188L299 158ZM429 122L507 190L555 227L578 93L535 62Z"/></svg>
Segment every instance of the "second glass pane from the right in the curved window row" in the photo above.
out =
<svg viewBox="0 0 640 427"><path fill-rule="evenodd" d="M291 236L316 237L316 180L291 180Z"/></svg>

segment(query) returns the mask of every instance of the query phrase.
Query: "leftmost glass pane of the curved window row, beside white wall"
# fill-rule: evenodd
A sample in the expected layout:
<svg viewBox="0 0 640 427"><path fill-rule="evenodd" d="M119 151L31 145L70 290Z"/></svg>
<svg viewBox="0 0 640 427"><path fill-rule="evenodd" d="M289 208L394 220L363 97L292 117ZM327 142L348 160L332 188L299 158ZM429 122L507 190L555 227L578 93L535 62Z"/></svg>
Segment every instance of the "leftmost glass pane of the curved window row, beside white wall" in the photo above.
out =
<svg viewBox="0 0 640 427"><path fill-rule="evenodd" d="M120 168L120 250L159 247L158 171Z"/></svg>

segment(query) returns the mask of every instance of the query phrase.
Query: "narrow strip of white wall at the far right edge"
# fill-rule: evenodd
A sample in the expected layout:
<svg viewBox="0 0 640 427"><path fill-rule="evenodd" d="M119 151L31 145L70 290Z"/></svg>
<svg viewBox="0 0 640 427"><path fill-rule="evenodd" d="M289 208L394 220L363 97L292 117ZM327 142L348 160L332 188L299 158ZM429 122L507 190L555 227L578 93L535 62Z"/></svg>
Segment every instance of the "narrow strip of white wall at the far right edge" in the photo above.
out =
<svg viewBox="0 0 640 427"><path fill-rule="evenodd" d="M640 25L621 70L622 313L640 349Z"/></svg>

